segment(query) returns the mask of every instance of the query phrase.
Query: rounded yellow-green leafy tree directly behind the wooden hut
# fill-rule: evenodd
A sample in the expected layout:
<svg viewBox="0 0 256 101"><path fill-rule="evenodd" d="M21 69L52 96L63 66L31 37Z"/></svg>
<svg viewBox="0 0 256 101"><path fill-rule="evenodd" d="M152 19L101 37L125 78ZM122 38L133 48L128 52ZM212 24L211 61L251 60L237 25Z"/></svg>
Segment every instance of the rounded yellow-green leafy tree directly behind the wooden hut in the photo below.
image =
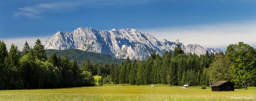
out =
<svg viewBox="0 0 256 101"><path fill-rule="evenodd" d="M211 82L218 82L218 81L231 81L230 76L230 67L231 62L227 60L225 56L222 54L218 54L215 56L214 61L209 67L208 70L208 77Z"/></svg>

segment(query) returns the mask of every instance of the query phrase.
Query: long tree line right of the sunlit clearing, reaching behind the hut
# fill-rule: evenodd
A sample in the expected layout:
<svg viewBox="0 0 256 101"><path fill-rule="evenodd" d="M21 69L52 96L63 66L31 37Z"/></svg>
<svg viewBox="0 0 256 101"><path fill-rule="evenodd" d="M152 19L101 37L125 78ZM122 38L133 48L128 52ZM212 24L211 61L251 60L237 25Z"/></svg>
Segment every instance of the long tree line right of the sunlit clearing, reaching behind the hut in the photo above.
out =
<svg viewBox="0 0 256 101"><path fill-rule="evenodd" d="M197 56L186 55L179 45L173 54L163 56L153 52L146 61L129 57L119 66L111 64L110 80L114 84L172 84L209 86L209 81L232 81L236 86L256 85L256 49L239 42L227 47L227 52Z"/></svg>

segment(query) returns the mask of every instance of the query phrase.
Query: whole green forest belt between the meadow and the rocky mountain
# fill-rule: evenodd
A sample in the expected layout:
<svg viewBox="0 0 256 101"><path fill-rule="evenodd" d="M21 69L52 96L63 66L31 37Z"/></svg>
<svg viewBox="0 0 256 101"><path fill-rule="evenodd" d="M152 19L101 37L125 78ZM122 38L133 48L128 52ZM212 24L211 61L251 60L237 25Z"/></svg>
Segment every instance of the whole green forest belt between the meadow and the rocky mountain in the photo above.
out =
<svg viewBox="0 0 256 101"><path fill-rule="evenodd" d="M89 60L97 61L95 57L102 58L101 64L91 64ZM76 59L82 63L80 67ZM127 57L118 64L120 60L107 54L77 49L45 50L39 39L34 47L26 42L22 52L14 44L8 52L4 41L0 41L0 90L93 86L96 82L100 85L183 85L189 82L191 86L208 86L209 81L222 80L233 81L247 89L256 85L255 61L256 49L242 42L229 45L226 53L207 51L200 56L186 55L177 45L173 53L166 51L160 56L153 52L145 61L131 61ZM101 78L96 81L95 75Z"/></svg>

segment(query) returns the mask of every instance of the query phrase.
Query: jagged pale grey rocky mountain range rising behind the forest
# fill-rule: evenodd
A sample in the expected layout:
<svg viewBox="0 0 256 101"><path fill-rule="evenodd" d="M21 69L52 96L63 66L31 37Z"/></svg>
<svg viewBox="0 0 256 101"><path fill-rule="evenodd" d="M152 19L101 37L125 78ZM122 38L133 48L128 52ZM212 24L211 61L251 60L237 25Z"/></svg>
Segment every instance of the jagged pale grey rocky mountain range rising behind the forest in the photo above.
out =
<svg viewBox="0 0 256 101"><path fill-rule="evenodd" d="M219 53L219 48L203 48L198 44L189 44L186 47L179 41L160 41L149 33L140 33L136 29L112 29L99 31L92 28L80 27L74 32L57 32L46 40L45 49L80 49L89 52L108 53L117 58L136 58L145 60L155 50L162 53L166 50L173 51L180 45L185 53L205 54Z"/></svg>

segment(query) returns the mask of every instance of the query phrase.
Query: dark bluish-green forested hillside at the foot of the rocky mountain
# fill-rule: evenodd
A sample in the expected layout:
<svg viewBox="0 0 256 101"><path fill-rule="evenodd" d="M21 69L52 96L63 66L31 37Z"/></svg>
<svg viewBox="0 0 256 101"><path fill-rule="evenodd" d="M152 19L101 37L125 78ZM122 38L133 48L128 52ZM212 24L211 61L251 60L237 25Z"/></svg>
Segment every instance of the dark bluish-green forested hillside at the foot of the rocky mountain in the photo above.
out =
<svg viewBox="0 0 256 101"><path fill-rule="evenodd" d="M80 49L47 49L45 52L47 57L49 57L53 52L60 57L63 57L64 54L66 54L69 60L75 59L80 67L82 66L82 63L86 61L86 59L89 59L91 64L107 64L112 62L114 64L121 64L122 61L125 61L125 59L117 59L106 53L87 52Z"/></svg>

